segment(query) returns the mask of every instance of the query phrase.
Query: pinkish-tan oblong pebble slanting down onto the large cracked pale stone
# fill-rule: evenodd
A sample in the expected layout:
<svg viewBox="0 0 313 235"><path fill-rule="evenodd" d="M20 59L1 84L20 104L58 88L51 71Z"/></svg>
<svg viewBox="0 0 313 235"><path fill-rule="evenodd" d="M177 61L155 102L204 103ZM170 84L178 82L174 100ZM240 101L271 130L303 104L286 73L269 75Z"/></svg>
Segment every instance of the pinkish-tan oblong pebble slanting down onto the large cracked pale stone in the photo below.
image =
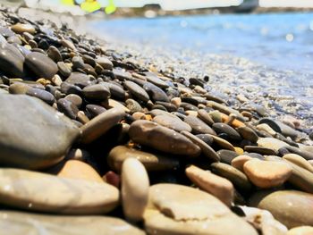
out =
<svg viewBox="0 0 313 235"><path fill-rule="evenodd" d="M209 171L203 171L197 166L191 165L186 168L188 178L199 186L200 189L207 191L220 199L226 206L233 203L233 183Z"/></svg>

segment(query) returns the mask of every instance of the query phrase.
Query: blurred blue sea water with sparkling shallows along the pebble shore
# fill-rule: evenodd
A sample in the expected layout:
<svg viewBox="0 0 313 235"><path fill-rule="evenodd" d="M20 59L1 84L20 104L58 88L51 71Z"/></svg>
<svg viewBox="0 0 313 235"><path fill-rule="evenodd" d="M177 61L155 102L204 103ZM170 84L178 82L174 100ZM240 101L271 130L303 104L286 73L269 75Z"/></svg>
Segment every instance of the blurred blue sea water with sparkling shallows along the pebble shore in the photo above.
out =
<svg viewBox="0 0 313 235"><path fill-rule="evenodd" d="M227 86L296 97L296 113L313 119L313 13L124 19L98 21L92 29L109 41L141 46L142 53L147 46L164 52L190 70L223 77Z"/></svg>

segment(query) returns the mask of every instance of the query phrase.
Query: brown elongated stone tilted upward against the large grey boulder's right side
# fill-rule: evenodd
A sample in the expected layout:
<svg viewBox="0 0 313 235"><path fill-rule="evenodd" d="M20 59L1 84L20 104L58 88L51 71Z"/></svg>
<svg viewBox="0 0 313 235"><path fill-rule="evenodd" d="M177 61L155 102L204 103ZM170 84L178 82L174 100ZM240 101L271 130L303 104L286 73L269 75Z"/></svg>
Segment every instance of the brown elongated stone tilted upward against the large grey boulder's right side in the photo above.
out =
<svg viewBox="0 0 313 235"><path fill-rule="evenodd" d="M80 127L81 143L89 144L100 136L104 135L107 130L110 130L114 125L120 122L125 113L118 108L112 108L104 113L97 115L95 118Z"/></svg>

